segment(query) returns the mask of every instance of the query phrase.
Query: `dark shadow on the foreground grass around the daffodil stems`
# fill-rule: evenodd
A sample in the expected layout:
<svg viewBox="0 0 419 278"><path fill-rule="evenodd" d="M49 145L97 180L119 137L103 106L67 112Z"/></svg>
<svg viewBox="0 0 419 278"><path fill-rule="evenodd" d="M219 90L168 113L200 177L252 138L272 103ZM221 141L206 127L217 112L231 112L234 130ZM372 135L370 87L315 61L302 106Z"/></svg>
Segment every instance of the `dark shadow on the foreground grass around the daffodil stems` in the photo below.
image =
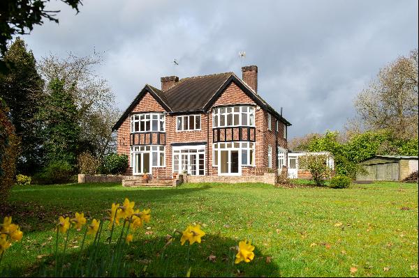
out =
<svg viewBox="0 0 419 278"><path fill-rule="evenodd" d="M146 232L147 233L147 232ZM141 236L135 233L134 236ZM270 277L278 276L278 266L270 261L271 255L263 254L258 247L254 250L255 258L250 263L232 263L235 251L229 251L230 247L238 245L238 240L221 238L218 235L205 235L201 244L195 243L191 247L180 245L180 235L175 235L175 240L165 248L168 239L165 237L150 237L133 240L130 245L124 245L124 256L117 276L123 277L185 277L189 267L191 277ZM110 276L109 265L111 256L106 250L109 245L101 243L102 255L98 256L91 264L90 273L86 273L89 265L90 246L83 251L80 270L86 276ZM63 275L66 277L76 276L79 254L71 250L61 259L64 262ZM189 254L189 255L188 255ZM189 259L188 259L189 256ZM229 258L230 257L230 258ZM91 262L90 262L91 263ZM58 264L60 266L61 263ZM2 275L5 275L4 273ZM29 275L29 276L54 276L54 254L41 258L30 268L9 269L6 275ZM114 273L115 275L115 273Z"/></svg>

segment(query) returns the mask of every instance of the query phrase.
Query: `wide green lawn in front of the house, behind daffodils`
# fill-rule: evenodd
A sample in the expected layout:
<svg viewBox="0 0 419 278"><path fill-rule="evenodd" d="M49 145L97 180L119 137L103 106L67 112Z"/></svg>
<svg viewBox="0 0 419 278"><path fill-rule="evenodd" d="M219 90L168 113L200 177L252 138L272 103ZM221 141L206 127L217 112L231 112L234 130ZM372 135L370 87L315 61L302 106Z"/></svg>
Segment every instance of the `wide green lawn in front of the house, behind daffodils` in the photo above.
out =
<svg viewBox="0 0 419 278"><path fill-rule="evenodd" d="M223 260L228 248L249 238L256 258L235 265L235 275L418 277L418 184L390 182L344 190L264 184L14 187L1 217L12 215L24 239L7 250L2 266L10 275L39 275L53 259L47 255L54 248L59 215L78 211L100 217L125 197L136 207L152 209L152 221L134 234L127 250L133 275L186 275L188 247L175 242L163 254L166 260L161 249L167 234L196 222L207 235L201 245L191 246L192 276L230 275ZM71 236L68 250L75 253L82 233ZM215 262L207 259L211 254Z"/></svg>

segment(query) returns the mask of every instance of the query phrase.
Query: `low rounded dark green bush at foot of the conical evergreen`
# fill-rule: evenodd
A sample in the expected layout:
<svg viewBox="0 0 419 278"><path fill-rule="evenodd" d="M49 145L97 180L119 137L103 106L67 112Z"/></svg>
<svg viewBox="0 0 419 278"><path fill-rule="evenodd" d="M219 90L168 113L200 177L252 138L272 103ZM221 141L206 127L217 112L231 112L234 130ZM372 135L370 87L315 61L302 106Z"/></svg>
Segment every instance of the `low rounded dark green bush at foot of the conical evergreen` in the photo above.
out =
<svg viewBox="0 0 419 278"><path fill-rule="evenodd" d="M73 175L73 167L64 160L53 161L34 176L36 183L67 183Z"/></svg>

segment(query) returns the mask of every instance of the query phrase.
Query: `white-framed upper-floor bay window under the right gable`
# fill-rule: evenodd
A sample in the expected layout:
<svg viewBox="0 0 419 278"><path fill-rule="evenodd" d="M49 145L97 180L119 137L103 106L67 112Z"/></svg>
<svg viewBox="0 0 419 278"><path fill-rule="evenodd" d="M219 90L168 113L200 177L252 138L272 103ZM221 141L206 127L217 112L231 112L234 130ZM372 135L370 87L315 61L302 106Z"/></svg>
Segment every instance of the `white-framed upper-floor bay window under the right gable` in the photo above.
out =
<svg viewBox="0 0 419 278"><path fill-rule="evenodd" d="M238 109L238 111L236 111ZM247 123L242 123L242 114L246 117ZM227 124L228 115L231 115L232 124ZM234 124L235 116L238 116L238 124ZM224 125L221 125L221 116L224 118ZM216 107L212 110L212 127L213 128L231 128L235 126L255 126L255 107L249 105Z"/></svg>

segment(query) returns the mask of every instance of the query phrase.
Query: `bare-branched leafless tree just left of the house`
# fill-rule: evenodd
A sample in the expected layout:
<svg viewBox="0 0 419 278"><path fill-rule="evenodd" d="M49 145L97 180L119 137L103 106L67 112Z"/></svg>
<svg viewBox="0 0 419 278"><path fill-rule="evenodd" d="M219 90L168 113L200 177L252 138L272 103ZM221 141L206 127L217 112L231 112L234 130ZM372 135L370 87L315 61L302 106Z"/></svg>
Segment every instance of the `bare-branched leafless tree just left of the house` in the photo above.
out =
<svg viewBox="0 0 419 278"><path fill-rule="evenodd" d="M70 54L66 59L50 55L43 58L39 66L47 82L53 79L64 82L64 90L73 96L77 107L80 142L84 150L99 158L112 149L115 137L111 128L119 115L107 80L94 71L101 62L100 54L82 57Z"/></svg>

